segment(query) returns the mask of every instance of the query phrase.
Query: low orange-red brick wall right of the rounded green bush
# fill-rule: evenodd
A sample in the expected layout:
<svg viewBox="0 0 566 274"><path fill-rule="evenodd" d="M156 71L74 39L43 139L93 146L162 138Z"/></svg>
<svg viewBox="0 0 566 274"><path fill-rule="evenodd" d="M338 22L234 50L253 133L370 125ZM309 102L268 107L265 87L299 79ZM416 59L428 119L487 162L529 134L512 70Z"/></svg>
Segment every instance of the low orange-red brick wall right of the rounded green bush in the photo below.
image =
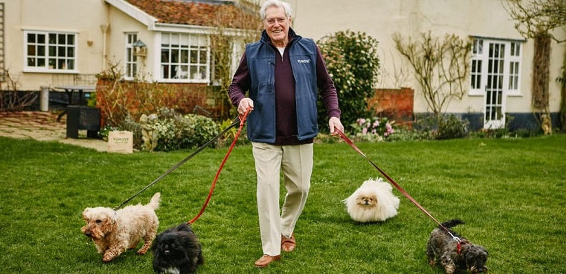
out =
<svg viewBox="0 0 566 274"><path fill-rule="evenodd" d="M411 127L415 91L411 88L378 88L368 106L377 116L385 116L396 125Z"/></svg>

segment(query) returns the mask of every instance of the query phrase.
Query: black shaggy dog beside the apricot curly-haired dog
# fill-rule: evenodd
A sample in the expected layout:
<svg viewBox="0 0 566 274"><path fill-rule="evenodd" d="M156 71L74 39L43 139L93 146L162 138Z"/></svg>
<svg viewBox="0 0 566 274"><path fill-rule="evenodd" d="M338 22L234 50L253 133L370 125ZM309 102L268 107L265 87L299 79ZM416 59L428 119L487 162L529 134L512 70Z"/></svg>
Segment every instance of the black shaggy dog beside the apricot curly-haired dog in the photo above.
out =
<svg viewBox="0 0 566 274"><path fill-rule="evenodd" d="M151 251L156 273L193 273L197 265L205 262L201 243L188 223L181 223L157 235Z"/></svg>

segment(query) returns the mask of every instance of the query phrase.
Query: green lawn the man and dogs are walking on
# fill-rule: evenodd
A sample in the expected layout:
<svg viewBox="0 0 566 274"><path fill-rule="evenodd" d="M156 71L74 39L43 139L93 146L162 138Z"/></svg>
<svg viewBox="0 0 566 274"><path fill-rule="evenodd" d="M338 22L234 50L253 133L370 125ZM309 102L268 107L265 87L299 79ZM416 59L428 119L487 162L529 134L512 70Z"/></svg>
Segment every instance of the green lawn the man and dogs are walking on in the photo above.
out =
<svg viewBox="0 0 566 274"><path fill-rule="evenodd" d="M360 149L436 219L490 252L490 273L566 273L566 135L360 143ZM80 234L84 208L114 207L191 151L98 153L57 142L0 138L0 273L152 273L150 254L103 264ZM199 212L227 149L205 149L131 203L162 194L160 229ZM315 145L297 250L267 269L262 255L251 147L236 147L194 230L198 273L444 273L427 264L435 223L397 190L398 216L350 220L341 200L378 172L343 143Z"/></svg>

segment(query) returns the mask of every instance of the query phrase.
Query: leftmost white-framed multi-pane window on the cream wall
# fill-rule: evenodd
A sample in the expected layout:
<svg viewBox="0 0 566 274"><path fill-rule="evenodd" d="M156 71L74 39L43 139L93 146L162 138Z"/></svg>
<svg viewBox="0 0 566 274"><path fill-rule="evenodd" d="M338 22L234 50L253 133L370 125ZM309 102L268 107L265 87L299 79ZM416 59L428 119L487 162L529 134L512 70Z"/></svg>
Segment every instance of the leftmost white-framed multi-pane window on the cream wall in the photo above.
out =
<svg viewBox="0 0 566 274"><path fill-rule="evenodd" d="M34 40L30 40L31 36ZM43 38L39 40L40 37ZM73 42L70 44L71 37ZM23 45L24 72L78 73L77 32L24 30ZM30 64L32 60L34 65ZM67 69L69 66L72 69Z"/></svg>

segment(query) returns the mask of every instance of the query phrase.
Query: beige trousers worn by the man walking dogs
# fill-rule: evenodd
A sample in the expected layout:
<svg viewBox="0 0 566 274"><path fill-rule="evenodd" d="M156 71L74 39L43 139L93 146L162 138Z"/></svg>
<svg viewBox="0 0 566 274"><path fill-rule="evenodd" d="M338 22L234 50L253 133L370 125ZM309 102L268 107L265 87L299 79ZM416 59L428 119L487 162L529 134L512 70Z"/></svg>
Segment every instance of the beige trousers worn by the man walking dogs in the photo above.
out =
<svg viewBox="0 0 566 274"><path fill-rule="evenodd" d="M281 235L290 237L303 211L313 172L313 144L278 146L252 142L258 176L258 214L263 253L281 253ZM286 195L280 209L280 172Z"/></svg>

